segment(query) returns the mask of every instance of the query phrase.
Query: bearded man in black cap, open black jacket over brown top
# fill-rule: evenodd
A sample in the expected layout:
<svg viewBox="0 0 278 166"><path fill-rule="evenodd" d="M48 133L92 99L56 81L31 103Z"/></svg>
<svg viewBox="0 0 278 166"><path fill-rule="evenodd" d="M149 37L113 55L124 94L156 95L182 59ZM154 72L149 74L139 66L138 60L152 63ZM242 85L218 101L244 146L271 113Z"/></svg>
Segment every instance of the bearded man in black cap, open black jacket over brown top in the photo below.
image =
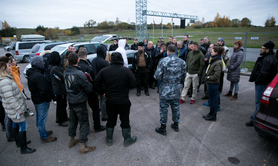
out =
<svg viewBox="0 0 278 166"><path fill-rule="evenodd" d="M144 43L138 43L138 52L132 58L132 68L136 73L137 96L141 94L141 83L147 96L150 96L148 89L148 73L152 69L152 57L144 51Z"/></svg>

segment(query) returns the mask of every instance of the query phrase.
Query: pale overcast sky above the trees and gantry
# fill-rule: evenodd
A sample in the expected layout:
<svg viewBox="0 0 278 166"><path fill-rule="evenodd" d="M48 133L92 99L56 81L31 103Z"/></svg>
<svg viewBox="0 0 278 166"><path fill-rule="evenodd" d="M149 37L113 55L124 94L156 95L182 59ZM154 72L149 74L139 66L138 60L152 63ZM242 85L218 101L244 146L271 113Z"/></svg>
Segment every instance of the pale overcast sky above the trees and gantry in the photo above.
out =
<svg viewBox="0 0 278 166"><path fill-rule="evenodd" d="M39 24L44 27L60 29L81 27L93 19L97 23L115 21L118 17L122 22L136 21L136 0L13 0L2 1L0 20L6 20L11 27L36 28ZM218 12L221 17L230 19L251 19L252 25L264 26L269 16L276 18L278 25L277 0L148 0L147 10L185 15L197 15L199 20L212 21ZM147 16L147 23L161 22L161 17ZM163 17L163 24L171 22L171 18ZM175 25L180 25L180 19L174 18ZM186 19L186 24L189 20Z"/></svg>

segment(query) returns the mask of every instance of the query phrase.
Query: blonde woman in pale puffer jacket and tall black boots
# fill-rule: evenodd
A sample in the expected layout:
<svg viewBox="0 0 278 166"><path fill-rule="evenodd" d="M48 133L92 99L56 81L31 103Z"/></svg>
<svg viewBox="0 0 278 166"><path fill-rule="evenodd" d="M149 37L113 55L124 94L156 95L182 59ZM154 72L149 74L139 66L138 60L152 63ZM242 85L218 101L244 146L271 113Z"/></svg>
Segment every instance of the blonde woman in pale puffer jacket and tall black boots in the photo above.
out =
<svg viewBox="0 0 278 166"><path fill-rule="evenodd" d="M10 66L6 62L0 62L0 96L3 107L7 116L13 120L13 136L18 140L21 154L33 153L36 149L28 148L26 142L26 117L29 112L25 110L22 94L10 72Z"/></svg>

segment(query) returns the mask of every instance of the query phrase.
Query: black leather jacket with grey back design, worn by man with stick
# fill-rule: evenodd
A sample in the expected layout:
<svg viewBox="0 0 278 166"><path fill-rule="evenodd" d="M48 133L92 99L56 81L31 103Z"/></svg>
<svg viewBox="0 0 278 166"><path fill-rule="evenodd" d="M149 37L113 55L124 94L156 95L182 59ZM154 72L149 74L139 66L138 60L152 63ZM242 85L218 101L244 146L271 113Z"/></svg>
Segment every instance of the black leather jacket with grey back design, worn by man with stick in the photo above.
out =
<svg viewBox="0 0 278 166"><path fill-rule="evenodd" d="M87 100L87 94L93 90L85 74L77 66L68 65L64 71L67 100L69 103L78 104Z"/></svg>

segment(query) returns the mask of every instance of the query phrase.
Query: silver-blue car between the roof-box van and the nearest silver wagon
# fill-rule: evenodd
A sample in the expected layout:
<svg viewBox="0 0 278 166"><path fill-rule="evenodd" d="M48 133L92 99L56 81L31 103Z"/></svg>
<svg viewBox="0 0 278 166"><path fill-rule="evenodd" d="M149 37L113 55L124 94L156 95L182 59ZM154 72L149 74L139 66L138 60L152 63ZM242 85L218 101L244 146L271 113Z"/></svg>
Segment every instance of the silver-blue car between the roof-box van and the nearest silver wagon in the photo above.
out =
<svg viewBox="0 0 278 166"><path fill-rule="evenodd" d="M76 41L74 41L74 42L76 42ZM30 60L32 60L32 58L34 56L40 55L44 51L44 48L46 48L46 47L49 47L50 49L52 49L55 46L65 44L65 43L73 43L73 42L71 42L71 41L65 41L65 42L58 41L58 42L51 42L51 43L35 44L30 51L30 56L29 56Z"/></svg>

